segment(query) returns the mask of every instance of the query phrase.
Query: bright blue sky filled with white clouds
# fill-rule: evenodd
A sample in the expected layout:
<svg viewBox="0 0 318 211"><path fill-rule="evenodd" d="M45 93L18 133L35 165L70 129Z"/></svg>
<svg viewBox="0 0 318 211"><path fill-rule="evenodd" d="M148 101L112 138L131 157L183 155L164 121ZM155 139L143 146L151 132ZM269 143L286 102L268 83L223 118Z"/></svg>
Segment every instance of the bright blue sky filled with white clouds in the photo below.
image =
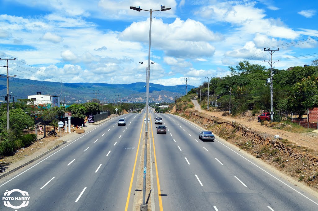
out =
<svg viewBox="0 0 318 211"><path fill-rule="evenodd" d="M20 78L145 82L146 69L139 62L148 64L149 12L131 10L131 5L145 10L159 10L160 5L171 7L152 15L152 83L185 84L184 78L189 77L189 84L198 86L205 77L229 74L228 66L244 59L268 67L262 61L270 57L262 49L271 46L280 48L273 55L274 61L280 60L275 63L278 69L310 65L318 58L316 1L0 3L0 57L20 60L9 64L10 74ZM4 68L0 69L3 73Z"/></svg>

